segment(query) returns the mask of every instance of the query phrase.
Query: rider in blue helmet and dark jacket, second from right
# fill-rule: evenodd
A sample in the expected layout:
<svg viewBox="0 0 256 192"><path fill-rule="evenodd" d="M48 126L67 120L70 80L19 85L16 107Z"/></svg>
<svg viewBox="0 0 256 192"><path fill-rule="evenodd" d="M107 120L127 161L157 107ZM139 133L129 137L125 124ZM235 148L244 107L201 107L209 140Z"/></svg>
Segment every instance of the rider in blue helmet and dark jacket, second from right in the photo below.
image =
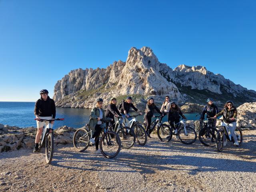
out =
<svg viewBox="0 0 256 192"><path fill-rule="evenodd" d="M218 113L218 107L213 104L213 99L208 98L206 100L207 105L204 106L203 112L202 112L202 120L204 120L204 115L206 114L206 118L211 118L214 117ZM209 126L212 128L216 128L216 119L208 119L209 120ZM215 131L212 129L212 142L214 142L214 136L215 136Z"/></svg>

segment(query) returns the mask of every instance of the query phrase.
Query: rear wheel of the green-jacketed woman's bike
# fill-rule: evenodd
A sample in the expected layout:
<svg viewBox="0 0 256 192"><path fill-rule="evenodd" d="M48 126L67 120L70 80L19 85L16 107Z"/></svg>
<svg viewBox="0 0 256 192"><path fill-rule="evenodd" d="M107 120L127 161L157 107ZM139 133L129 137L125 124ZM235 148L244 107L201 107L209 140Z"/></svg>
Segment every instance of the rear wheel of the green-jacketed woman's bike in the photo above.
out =
<svg viewBox="0 0 256 192"><path fill-rule="evenodd" d="M83 137L83 138L82 138ZM85 128L79 128L76 130L73 136L74 148L79 151L85 151L89 146L90 135Z"/></svg>

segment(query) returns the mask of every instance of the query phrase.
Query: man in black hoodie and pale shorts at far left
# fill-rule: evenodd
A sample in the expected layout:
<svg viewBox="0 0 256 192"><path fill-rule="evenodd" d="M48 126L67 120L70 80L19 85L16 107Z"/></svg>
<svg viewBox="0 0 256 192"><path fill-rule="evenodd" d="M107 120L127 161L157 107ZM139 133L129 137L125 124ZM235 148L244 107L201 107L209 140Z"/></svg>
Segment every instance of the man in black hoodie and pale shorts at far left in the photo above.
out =
<svg viewBox="0 0 256 192"><path fill-rule="evenodd" d="M36 101L34 114L36 116L36 124L37 124L37 132L36 132L36 140L35 140L35 148L33 152L38 152L38 143L40 140L40 136L43 131L43 127L49 124L48 121L40 122L39 120L47 119L51 120L54 119L56 116L56 107L54 100L48 96L48 90L42 89L40 90L40 99ZM51 122L53 124L54 121Z"/></svg>

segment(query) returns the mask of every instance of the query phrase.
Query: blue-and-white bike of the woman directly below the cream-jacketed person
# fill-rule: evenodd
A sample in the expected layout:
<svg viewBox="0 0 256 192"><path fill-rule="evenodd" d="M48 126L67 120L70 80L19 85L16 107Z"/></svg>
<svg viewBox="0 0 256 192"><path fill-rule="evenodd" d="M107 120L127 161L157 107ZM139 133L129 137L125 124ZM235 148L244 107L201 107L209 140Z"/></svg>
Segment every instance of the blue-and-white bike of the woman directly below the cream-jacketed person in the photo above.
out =
<svg viewBox="0 0 256 192"><path fill-rule="evenodd" d="M169 125L168 122L164 122L164 124ZM196 141L196 138L197 138L196 131L192 127L186 126L186 119L182 118L182 120L180 120L178 123L174 124L174 127L178 130L178 132L176 134L174 129L170 126L170 128L172 130L172 134L177 135L178 139L182 143L189 145Z"/></svg>

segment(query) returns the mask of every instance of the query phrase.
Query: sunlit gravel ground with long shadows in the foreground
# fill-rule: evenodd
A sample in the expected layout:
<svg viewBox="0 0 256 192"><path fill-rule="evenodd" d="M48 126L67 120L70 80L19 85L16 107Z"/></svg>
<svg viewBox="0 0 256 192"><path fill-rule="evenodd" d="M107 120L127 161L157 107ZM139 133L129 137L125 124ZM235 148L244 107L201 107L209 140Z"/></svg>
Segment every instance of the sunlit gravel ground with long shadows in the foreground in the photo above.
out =
<svg viewBox="0 0 256 192"><path fill-rule="evenodd" d="M44 153L3 152L0 191L256 191L256 130L243 134L241 147L228 142L222 152L199 140L160 142L157 135L114 159L95 154L94 147L80 153L71 145L58 146L51 165Z"/></svg>

